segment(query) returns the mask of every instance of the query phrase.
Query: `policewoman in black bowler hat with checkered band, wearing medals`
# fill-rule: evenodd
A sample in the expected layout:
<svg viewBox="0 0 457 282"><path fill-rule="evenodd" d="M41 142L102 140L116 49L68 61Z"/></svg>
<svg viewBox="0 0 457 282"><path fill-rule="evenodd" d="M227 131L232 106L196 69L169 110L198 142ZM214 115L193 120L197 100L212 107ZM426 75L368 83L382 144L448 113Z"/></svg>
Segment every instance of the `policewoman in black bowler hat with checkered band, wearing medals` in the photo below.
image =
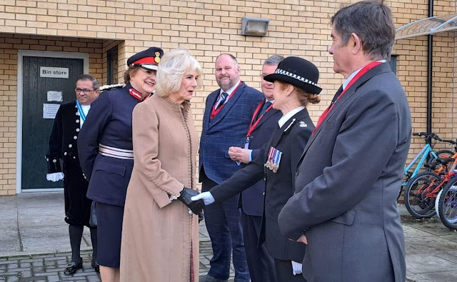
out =
<svg viewBox="0 0 457 282"><path fill-rule="evenodd" d="M301 276L301 261L306 245L282 236L278 215L288 198L293 196L295 168L306 142L314 129L306 105L321 99L317 86L319 71L309 61L288 57L279 63L274 74L263 79L274 83L273 109L283 116L271 139L261 148L258 157L209 192L192 197L204 199L206 205L225 201L264 178L266 188L259 244L266 242L274 258L276 281L305 281Z"/></svg>

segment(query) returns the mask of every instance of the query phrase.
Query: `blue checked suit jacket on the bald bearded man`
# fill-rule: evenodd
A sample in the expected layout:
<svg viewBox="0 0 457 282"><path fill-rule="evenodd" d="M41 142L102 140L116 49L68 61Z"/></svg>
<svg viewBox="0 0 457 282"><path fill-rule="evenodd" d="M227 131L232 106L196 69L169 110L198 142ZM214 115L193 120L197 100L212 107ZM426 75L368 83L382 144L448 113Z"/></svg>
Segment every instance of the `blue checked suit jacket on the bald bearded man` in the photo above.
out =
<svg viewBox="0 0 457 282"><path fill-rule="evenodd" d="M239 170L240 166L229 156L229 148L246 142L251 117L258 103L264 99L261 91L241 82L224 108L210 120L220 91L212 92L206 99L199 148L199 171L201 173L201 168L204 168L206 176L216 183L221 183Z"/></svg>

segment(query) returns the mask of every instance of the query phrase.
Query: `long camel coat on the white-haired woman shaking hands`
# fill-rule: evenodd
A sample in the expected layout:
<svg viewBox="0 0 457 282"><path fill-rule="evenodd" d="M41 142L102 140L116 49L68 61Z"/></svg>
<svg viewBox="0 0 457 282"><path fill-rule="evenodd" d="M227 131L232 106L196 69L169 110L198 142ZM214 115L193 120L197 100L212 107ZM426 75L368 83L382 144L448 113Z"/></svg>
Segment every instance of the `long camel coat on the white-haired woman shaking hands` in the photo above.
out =
<svg viewBox="0 0 457 282"><path fill-rule="evenodd" d="M179 200L196 190L199 144L190 103L151 96L133 114L134 170L127 188L121 281L199 281L199 221ZM193 269L191 269L191 257Z"/></svg>

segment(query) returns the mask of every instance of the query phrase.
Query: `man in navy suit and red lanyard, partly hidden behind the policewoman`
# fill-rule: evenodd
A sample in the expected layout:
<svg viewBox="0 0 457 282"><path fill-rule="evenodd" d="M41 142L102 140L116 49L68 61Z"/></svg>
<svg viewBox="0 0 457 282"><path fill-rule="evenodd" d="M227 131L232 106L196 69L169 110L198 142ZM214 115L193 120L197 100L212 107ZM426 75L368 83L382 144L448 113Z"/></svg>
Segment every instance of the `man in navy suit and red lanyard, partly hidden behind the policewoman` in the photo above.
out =
<svg viewBox="0 0 457 282"><path fill-rule="evenodd" d="M258 152L266 143L281 119L282 113L273 109L274 84L263 79L268 74L276 71L278 64L284 59L283 56L273 55L263 62L261 71L261 89L265 99L258 104L256 112L251 119L248 130L248 139L243 144L244 148L230 147L229 156L233 161L248 163L258 156ZM241 165L245 167L246 164ZM258 238L261 231L263 214L263 194L265 193L265 181L262 179L256 184L241 192L241 220L243 223L244 248L248 261L249 274L252 282L276 281L273 257L266 249L266 243L258 246Z"/></svg>

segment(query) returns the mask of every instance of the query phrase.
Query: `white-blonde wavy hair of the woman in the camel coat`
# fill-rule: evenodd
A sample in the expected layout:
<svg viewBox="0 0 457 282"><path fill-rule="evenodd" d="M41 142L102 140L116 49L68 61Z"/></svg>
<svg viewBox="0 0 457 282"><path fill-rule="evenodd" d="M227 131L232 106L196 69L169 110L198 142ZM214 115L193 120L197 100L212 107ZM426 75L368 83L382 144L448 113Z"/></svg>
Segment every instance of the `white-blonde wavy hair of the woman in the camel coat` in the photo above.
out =
<svg viewBox="0 0 457 282"><path fill-rule="evenodd" d="M156 74L156 91L158 96L167 96L181 88L184 73L187 70L197 71L197 89L203 85L203 69L199 62L185 49L175 49L162 56Z"/></svg>

